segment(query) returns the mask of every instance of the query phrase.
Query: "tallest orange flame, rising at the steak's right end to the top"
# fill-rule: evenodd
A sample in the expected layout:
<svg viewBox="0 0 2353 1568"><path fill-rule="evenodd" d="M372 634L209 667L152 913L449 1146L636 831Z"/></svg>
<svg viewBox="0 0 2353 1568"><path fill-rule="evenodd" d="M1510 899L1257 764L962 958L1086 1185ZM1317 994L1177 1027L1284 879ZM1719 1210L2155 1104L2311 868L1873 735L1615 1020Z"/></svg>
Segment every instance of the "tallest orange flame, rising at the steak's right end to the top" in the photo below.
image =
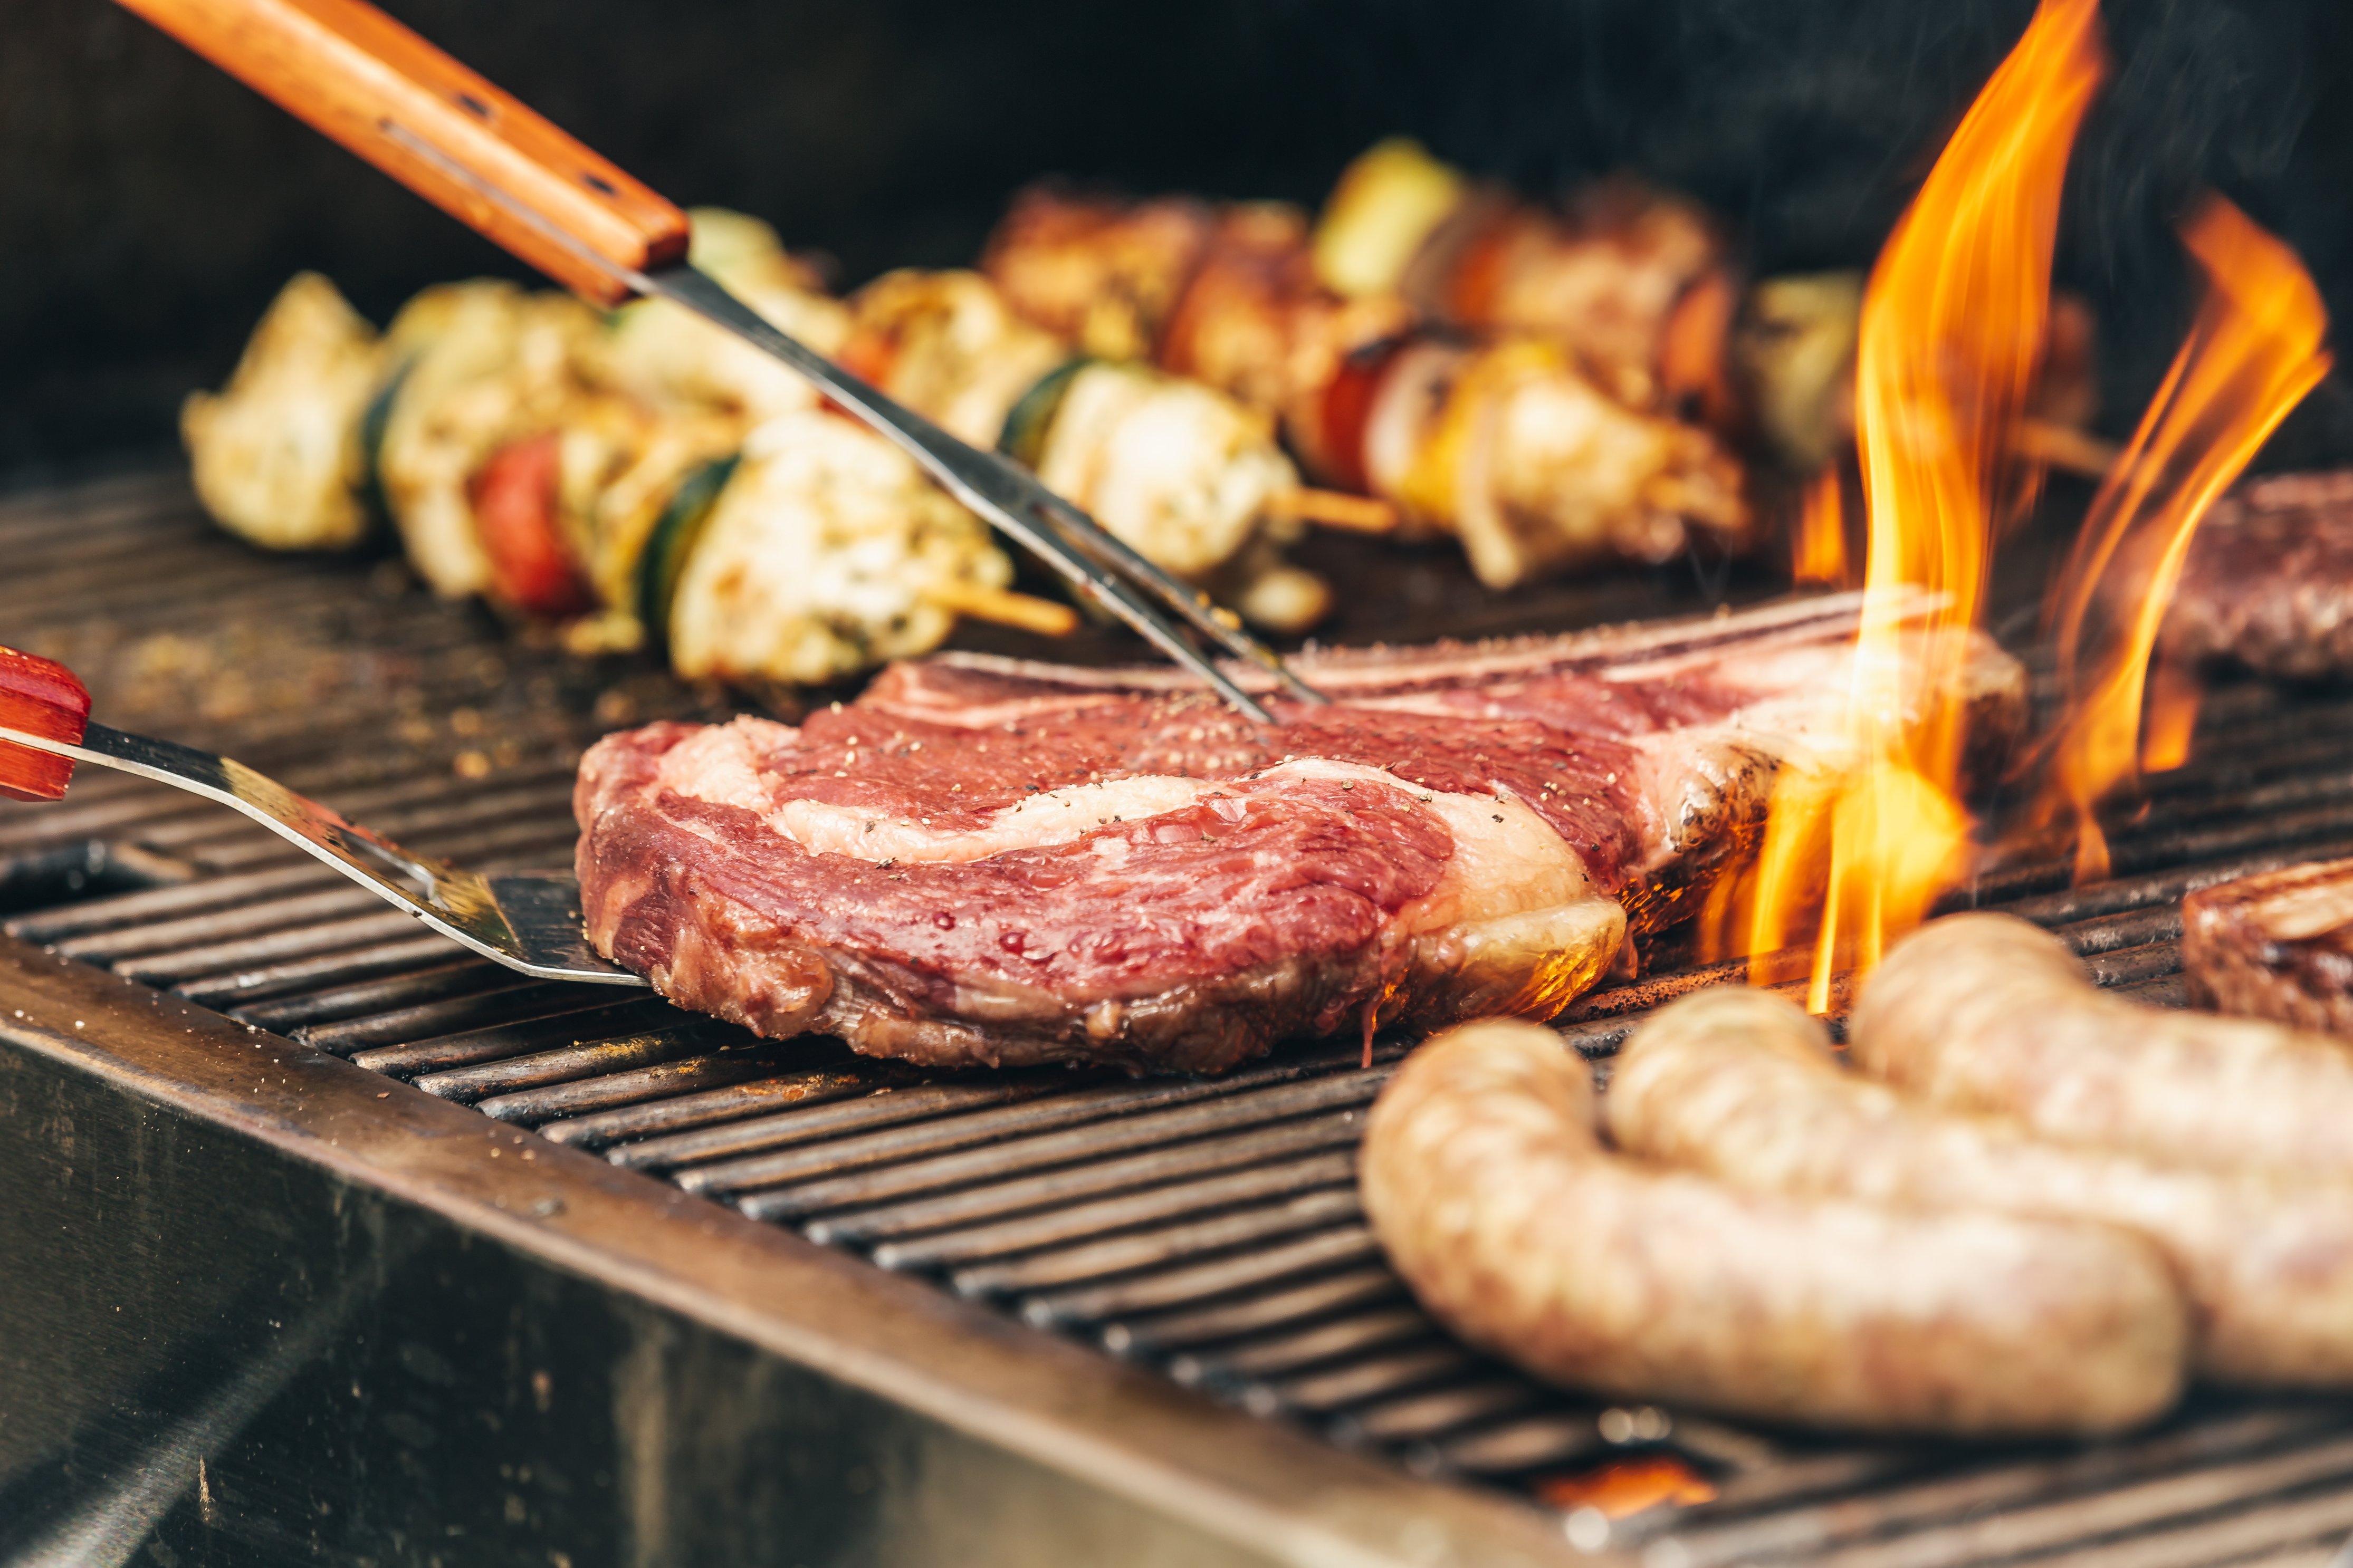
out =
<svg viewBox="0 0 2353 1568"><path fill-rule="evenodd" d="M1774 790L1751 952L1821 926L1807 994L1878 964L1960 875L1962 675L2007 442L2045 341L2059 188L2106 71L2097 0L2042 0L1880 252L1857 350L1868 555L1847 693L1852 766ZM1828 872L1812 872L1828 839ZM1751 978L1765 980L1753 973Z"/></svg>

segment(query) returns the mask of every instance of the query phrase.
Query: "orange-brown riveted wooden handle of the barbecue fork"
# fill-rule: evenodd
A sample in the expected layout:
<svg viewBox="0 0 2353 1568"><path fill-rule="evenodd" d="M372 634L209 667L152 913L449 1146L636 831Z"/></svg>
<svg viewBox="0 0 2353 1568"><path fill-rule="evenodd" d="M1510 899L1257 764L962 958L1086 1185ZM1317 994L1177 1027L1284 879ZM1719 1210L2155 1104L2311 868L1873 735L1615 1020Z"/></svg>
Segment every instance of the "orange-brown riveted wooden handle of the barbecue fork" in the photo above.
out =
<svg viewBox="0 0 2353 1568"><path fill-rule="evenodd" d="M555 235L635 273L685 261L687 214L372 5L120 5L586 299L631 289Z"/></svg>

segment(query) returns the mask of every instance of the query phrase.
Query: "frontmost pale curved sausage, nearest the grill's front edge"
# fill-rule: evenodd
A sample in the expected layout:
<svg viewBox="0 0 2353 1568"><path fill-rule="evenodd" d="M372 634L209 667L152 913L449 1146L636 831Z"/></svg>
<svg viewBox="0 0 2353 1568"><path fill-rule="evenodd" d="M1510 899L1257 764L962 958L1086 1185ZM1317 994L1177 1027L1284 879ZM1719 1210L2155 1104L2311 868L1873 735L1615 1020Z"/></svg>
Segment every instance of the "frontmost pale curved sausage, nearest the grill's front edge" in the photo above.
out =
<svg viewBox="0 0 2353 1568"><path fill-rule="evenodd" d="M1360 1157L1421 1302L1541 1378L1739 1415L1913 1432L2113 1432L2181 1389L2188 1324L2141 1237L1744 1192L1607 1152L1551 1030L1417 1051Z"/></svg>

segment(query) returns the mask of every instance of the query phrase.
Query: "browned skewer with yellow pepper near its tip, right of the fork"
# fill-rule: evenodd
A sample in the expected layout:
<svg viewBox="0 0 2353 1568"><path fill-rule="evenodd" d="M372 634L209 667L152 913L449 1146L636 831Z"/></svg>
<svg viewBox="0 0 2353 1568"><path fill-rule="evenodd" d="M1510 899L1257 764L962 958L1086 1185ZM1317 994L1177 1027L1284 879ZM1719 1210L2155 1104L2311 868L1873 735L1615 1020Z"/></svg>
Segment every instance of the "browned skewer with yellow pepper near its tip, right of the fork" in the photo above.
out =
<svg viewBox="0 0 2353 1568"><path fill-rule="evenodd" d="M1751 536L1741 470L1715 435L1649 393L1626 402L1555 334L1468 341L1417 327L1400 294L1334 292L1292 209L1033 190L984 266L1007 303L1082 346L1146 346L1162 369L1278 416L1318 480L1391 503L1412 531L1459 536L1492 588Z"/></svg>

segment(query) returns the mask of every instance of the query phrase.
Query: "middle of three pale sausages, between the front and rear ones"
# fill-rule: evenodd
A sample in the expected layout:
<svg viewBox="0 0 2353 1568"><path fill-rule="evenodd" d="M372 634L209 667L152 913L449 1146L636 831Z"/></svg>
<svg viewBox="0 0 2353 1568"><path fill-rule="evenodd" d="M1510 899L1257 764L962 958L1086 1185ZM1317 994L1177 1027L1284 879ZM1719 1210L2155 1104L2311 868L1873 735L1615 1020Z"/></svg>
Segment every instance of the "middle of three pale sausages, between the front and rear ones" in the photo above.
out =
<svg viewBox="0 0 2353 1568"><path fill-rule="evenodd" d="M1739 985L1645 1023L1605 1110L1621 1150L1744 1190L2141 1232L2188 1295L2200 1373L2353 1387L2353 1187L2167 1168L1941 1112L1847 1072L1821 1023Z"/></svg>

